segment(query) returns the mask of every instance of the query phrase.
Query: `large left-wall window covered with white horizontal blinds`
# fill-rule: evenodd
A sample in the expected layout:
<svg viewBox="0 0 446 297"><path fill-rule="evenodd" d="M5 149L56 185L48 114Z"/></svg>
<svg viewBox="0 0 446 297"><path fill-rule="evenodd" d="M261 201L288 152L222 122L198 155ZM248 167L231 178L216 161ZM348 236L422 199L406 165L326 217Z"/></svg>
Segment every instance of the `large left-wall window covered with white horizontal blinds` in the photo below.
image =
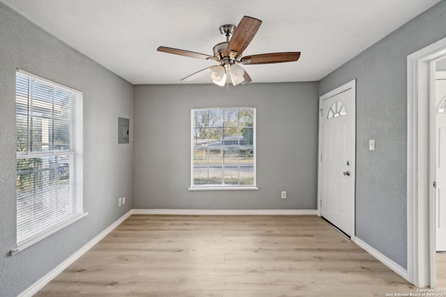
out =
<svg viewBox="0 0 446 297"><path fill-rule="evenodd" d="M19 70L16 122L19 248L13 252L84 216L82 93Z"/></svg>

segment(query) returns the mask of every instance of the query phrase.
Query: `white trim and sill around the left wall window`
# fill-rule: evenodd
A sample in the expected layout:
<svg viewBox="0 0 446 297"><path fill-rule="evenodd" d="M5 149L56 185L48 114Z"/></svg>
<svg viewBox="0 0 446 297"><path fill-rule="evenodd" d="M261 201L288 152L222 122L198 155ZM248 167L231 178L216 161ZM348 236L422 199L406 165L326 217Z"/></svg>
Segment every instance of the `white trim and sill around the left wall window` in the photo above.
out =
<svg viewBox="0 0 446 297"><path fill-rule="evenodd" d="M17 73L19 74L23 74L26 77L29 77L31 79L36 79L38 81L42 81L44 83L49 83L50 85L53 86L53 88L63 88L65 90L68 90L70 93L74 93L75 96L77 97L76 99L76 104L75 104L75 113L77 115L77 119L76 119L76 127L75 127L75 134L76 136L78 136L76 138L76 150L73 153L73 156L77 156L77 158L80 158L81 161L78 162L77 165L77 190L75 195L78 197L79 199L79 207L81 208L80 212L71 214L70 216L66 217L63 220L60 220L58 224L53 225L51 227L48 227L46 230L43 230L42 232L38 232L37 234L34 234L33 236L31 236L29 239L26 239L24 241L22 241L21 243L17 244L17 246L15 248L13 248L13 250L10 250L10 256L17 254L18 252L21 252L22 250L25 250L26 248L29 248L30 246L32 246L34 243L38 243L39 241L47 238L48 236L58 232L59 230L62 230L63 228L67 227L68 225L71 225L72 223L75 223L77 220L80 220L81 218L84 218L85 216L87 216L89 213L84 211L84 197L83 197L83 161L82 161L82 156L84 154L84 141L83 141L83 123L84 123L84 116L83 116L83 101L84 101L84 94L82 93L82 91L79 90L75 90L74 88L70 88L69 86L65 86L61 83L56 83L55 81L51 81L49 79L45 79L43 77L39 77L36 74L32 74L30 72L26 72L24 70L21 70L19 68L16 69L16 75ZM15 92L16 93L16 92ZM15 94L16 96L17 94ZM15 99L16 100L16 99ZM17 113L17 111L16 111ZM17 116L17 115L16 115ZM20 153L20 152L16 152L17 156L24 156L24 153ZM45 157L45 156L54 156L59 154L59 152L40 152L40 153L33 153L33 152L27 152L26 153L28 156L30 156L31 158L33 157ZM62 152L60 153L62 154ZM16 160L17 159L22 159L22 158L17 158L16 156ZM79 198L80 196L80 198ZM16 197L17 198L17 197ZM16 206L17 208L17 206ZM16 226L17 227L17 226ZM16 230L16 236L17 236L17 230ZM17 242L16 242L17 243Z"/></svg>

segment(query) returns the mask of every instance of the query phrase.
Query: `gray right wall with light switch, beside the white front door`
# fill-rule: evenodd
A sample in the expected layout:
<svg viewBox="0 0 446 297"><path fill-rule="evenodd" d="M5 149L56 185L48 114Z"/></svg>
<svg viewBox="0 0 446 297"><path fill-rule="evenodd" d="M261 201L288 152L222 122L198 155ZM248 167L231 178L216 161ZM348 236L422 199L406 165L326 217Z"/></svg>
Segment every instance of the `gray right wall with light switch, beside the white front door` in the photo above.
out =
<svg viewBox="0 0 446 297"><path fill-rule="evenodd" d="M357 79L356 236L407 266L407 56L446 37L446 1L397 29L319 83ZM368 150L369 139L376 150Z"/></svg>

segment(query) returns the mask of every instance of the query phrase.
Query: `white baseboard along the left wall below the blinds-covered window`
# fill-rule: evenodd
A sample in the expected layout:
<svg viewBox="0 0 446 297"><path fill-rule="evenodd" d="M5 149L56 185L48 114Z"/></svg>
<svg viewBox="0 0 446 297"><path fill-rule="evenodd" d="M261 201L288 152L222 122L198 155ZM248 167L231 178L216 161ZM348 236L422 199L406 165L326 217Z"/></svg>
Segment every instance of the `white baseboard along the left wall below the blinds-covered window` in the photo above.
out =
<svg viewBox="0 0 446 297"><path fill-rule="evenodd" d="M123 221L128 218L132 214L132 209L128 211L126 214L121 216L121 218L118 218L112 225L109 225L107 229L100 232L100 234L96 235L91 241L86 243L82 248L77 250L74 254L72 254L70 257L68 257L65 261L63 261L61 264L56 266L52 271L49 271L46 275L44 275L42 278L31 284L30 287L28 287L26 290L22 291L17 297L31 297L34 294L37 294L40 289L45 287L45 285L50 282L53 278L56 278L59 273L64 271L68 266L70 266L72 263L74 263L79 257L84 255L89 249L93 248L93 246L98 243L101 239L103 239L107 234L112 232L114 228L118 227Z"/></svg>

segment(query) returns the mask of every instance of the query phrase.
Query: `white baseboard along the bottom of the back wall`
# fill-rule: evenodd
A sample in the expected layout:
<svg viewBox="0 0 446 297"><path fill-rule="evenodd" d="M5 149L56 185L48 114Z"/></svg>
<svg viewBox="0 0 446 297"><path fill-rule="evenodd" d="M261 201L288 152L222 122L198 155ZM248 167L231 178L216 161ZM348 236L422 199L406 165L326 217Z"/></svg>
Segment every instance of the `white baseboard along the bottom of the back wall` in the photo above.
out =
<svg viewBox="0 0 446 297"><path fill-rule="evenodd" d="M180 216L299 216L316 215L316 209L133 209L132 214L170 214Z"/></svg>

